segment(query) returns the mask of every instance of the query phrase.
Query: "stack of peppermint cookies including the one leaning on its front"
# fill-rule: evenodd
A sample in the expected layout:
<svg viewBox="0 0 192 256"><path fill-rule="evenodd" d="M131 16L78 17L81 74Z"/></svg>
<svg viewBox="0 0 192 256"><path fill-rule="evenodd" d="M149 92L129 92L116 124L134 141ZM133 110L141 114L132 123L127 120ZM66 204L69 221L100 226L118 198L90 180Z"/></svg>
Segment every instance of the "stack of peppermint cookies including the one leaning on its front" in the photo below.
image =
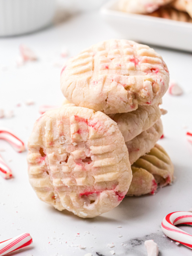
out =
<svg viewBox="0 0 192 256"><path fill-rule="evenodd" d="M69 102L45 112L28 142L38 197L87 218L172 182L172 162L156 144L168 85L162 57L133 41L104 41L70 58L61 71Z"/></svg>

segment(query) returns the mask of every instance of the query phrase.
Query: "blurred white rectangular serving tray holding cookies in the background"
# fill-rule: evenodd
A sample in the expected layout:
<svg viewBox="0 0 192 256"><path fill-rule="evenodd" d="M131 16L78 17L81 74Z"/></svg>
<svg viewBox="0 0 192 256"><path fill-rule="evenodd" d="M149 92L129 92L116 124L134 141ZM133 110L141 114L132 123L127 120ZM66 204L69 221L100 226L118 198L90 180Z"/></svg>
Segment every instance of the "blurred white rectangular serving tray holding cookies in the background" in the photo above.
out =
<svg viewBox="0 0 192 256"><path fill-rule="evenodd" d="M192 23L118 11L110 0L100 12L126 39L192 52Z"/></svg>

